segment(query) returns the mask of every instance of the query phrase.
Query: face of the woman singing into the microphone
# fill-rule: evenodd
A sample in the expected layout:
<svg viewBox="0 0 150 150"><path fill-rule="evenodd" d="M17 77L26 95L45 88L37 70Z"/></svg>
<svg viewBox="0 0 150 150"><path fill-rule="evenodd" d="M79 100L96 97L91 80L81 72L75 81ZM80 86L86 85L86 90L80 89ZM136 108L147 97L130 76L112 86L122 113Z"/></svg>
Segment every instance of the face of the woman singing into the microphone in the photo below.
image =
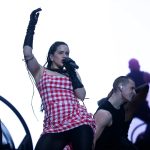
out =
<svg viewBox="0 0 150 150"><path fill-rule="evenodd" d="M50 55L52 61L52 68L59 68L63 66L63 59L69 57L69 47L67 45L59 45L54 54Z"/></svg>

